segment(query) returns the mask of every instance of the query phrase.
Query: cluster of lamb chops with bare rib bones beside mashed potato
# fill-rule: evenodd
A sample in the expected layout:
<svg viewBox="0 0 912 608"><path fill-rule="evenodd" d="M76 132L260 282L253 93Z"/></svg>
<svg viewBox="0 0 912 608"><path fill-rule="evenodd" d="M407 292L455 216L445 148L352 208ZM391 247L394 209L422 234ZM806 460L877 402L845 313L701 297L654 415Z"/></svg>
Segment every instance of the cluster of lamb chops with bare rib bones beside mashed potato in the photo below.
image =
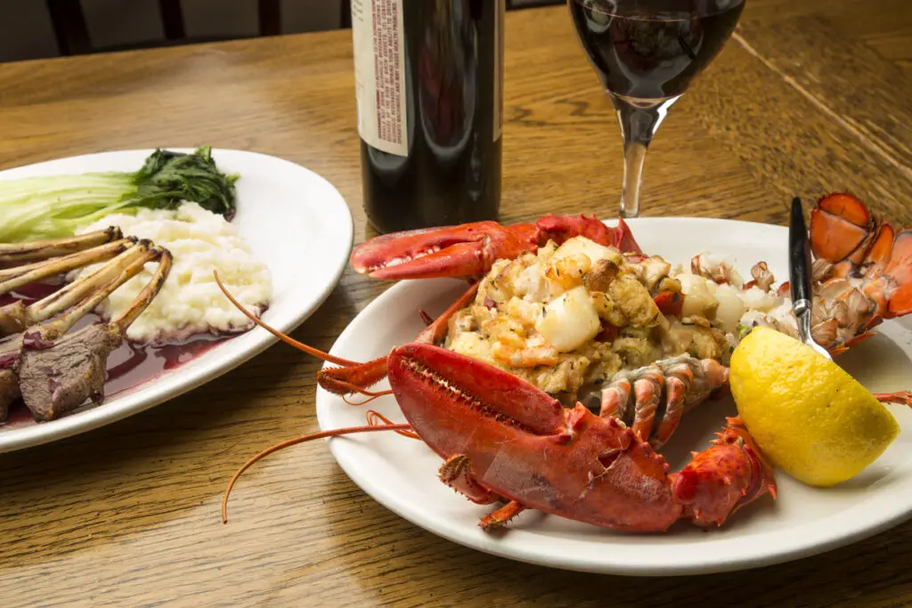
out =
<svg viewBox="0 0 912 608"><path fill-rule="evenodd" d="M56 260L30 264L25 273L21 272L22 267L0 270L8 273L6 280L0 274L0 294L3 294L16 288L9 287L10 284L25 284L26 277L34 281L35 277L45 278L109 259L94 273L78 278L34 304L19 302L0 308L0 332L18 330L0 343L0 420L5 418L6 408L20 396L32 416L41 421L79 407L87 399L98 403L103 398L108 356L123 342L130 324L159 293L171 270L171 253L167 250L149 241L119 237L119 232L110 232L108 242L102 241L103 244L97 244L98 236L86 240L83 244L96 246ZM13 246L4 247L9 250ZM53 244L52 248L60 251L59 244ZM4 254L0 250L0 260ZM123 314L67 334L79 319L140 273L145 263L154 260L159 263L156 273ZM20 272L12 272L16 270Z"/></svg>

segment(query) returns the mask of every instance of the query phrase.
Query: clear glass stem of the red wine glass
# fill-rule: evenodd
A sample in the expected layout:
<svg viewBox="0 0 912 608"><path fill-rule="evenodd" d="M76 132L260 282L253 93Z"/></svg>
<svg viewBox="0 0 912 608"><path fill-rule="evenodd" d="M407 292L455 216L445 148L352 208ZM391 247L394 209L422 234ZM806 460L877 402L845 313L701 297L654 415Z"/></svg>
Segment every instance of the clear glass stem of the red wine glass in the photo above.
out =
<svg viewBox="0 0 912 608"><path fill-rule="evenodd" d="M621 191L621 217L639 217L639 191L649 142L678 98L631 99L609 93L617 111L624 137L624 188Z"/></svg>

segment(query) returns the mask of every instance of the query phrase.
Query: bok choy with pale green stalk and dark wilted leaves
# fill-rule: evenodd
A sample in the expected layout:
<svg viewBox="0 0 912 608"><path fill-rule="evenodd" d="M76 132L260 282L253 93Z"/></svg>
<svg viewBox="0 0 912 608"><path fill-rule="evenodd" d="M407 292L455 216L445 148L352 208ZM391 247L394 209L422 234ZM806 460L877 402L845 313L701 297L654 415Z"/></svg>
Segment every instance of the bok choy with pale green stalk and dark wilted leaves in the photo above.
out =
<svg viewBox="0 0 912 608"><path fill-rule="evenodd" d="M192 154L156 149L134 173L0 180L0 242L70 236L114 211L176 209L183 201L230 220L237 177L218 170L206 146Z"/></svg>

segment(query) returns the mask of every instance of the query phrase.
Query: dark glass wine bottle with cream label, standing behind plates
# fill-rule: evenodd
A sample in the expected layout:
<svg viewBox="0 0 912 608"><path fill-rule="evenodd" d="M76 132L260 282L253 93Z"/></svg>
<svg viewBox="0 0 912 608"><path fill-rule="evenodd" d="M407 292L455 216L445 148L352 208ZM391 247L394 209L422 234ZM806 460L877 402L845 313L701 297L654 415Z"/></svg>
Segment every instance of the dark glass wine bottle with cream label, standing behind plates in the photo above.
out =
<svg viewBox="0 0 912 608"><path fill-rule="evenodd" d="M496 219L504 0L352 0L368 221L392 232Z"/></svg>

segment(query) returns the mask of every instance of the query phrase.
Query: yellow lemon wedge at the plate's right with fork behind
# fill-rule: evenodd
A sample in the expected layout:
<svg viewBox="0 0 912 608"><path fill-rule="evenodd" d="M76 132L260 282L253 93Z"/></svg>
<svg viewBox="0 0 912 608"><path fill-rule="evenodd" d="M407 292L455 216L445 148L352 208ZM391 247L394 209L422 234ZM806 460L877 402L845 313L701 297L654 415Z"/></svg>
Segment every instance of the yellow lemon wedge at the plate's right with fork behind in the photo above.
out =
<svg viewBox="0 0 912 608"><path fill-rule="evenodd" d="M731 394L772 462L812 486L855 477L899 434L855 378L794 338L757 327L731 354Z"/></svg>

